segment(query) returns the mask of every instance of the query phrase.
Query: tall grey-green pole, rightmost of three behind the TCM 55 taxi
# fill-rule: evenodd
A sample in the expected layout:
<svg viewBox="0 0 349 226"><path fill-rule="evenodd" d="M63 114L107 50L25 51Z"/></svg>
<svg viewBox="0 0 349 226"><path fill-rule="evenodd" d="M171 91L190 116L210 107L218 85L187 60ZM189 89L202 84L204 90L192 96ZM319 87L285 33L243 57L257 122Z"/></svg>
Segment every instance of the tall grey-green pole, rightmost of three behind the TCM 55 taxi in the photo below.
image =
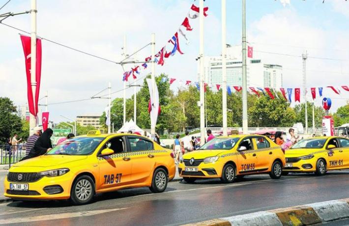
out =
<svg viewBox="0 0 349 226"><path fill-rule="evenodd" d="M242 0L242 131L247 134L246 0Z"/></svg>

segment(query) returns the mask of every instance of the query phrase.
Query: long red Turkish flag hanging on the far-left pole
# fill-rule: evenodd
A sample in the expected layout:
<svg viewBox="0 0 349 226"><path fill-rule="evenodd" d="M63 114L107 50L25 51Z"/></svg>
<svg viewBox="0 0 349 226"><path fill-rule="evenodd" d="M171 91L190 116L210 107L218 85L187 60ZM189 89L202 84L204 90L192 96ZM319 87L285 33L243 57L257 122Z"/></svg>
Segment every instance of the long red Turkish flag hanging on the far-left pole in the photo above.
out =
<svg viewBox="0 0 349 226"><path fill-rule="evenodd" d="M35 71L36 90L35 90L35 98L33 98L33 93L32 93L32 89L31 89L31 77L30 77L31 43L30 43L30 40L31 39L29 36L21 35L24 56L26 59L27 96L28 96L29 112L32 115L37 116L39 91L40 91L40 79L41 79L41 39L36 38L36 71Z"/></svg>

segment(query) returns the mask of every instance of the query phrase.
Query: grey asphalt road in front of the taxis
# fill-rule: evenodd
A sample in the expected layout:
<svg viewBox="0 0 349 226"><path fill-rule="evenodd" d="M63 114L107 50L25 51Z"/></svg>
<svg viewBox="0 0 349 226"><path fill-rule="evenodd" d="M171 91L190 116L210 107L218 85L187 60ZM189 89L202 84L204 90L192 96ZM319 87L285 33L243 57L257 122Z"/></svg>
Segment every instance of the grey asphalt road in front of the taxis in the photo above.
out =
<svg viewBox="0 0 349 226"><path fill-rule="evenodd" d="M0 204L0 224L17 225L181 225L211 218L349 197L349 171L326 176L291 174L280 180L247 176L240 182L171 182L162 194L147 188L101 194L91 204L66 201Z"/></svg>

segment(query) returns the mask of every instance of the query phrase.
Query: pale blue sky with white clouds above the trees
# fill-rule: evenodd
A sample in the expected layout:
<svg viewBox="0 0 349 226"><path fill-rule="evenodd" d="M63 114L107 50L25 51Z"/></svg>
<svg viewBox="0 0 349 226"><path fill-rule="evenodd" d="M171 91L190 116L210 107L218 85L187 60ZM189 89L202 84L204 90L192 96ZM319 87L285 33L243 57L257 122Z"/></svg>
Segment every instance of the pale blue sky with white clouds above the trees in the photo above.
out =
<svg viewBox="0 0 349 226"><path fill-rule="evenodd" d="M0 0L2 6L7 0ZM247 0L247 41L254 47L254 58L283 66L285 88L302 86L301 54L308 52L307 87L349 85L349 2L345 0ZM155 33L156 51L167 44L189 12L193 0L37 0L37 35L112 61L123 59L151 41ZM221 53L221 1L206 0L208 16L204 19L204 54ZM227 0L227 43L241 43L241 0ZM11 0L0 14L30 9L30 0ZM3 23L30 31L30 15L9 17ZM199 54L199 19L190 21L189 43L179 36L183 55L175 54L164 66L156 66L156 75L166 73L177 81L197 79ZM168 45L170 46L170 45ZM40 98L48 91L48 111L55 123L66 121L60 115L75 118L82 114L101 114L107 99L57 104L92 97L112 84L112 95L123 97L120 65L72 51L42 40ZM270 53L279 53L270 54ZM143 61L151 55L147 46L136 54ZM287 56L292 55L292 56ZM327 59L319 59L327 58ZM134 65L125 65L129 70ZM150 72L141 71L139 78ZM131 83L134 80L130 79ZM27 81L19 31L0 24L0 97L9 97L16 105L27 103ZM133 88L126 90L127 97ZM106 95L107 91L99 95ZM341 95L324 88L324 97L332 99L330 112L345 105L349 92ZM310 92L307 97L311 99ZM302 101L302 99L301 99ZM44 99L40 100L44 104ZM55 104L56 103L56 104ZM315 100L321 106L321 99ZM44 107L43 107L44 110Z"/></svg>

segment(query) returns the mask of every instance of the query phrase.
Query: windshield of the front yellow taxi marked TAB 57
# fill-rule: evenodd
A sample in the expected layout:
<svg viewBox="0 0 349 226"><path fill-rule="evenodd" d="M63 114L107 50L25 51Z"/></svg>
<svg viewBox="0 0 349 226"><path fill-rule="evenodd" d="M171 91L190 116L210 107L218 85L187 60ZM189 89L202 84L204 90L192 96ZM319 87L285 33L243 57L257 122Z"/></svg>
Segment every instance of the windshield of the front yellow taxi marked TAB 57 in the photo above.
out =
<svg viewBox="0 0 349 226"><path fill-rule="evenodd" d="M84 156L91 154L104 140L103 137L75 137L60 143L47 155Z"/></svg>

